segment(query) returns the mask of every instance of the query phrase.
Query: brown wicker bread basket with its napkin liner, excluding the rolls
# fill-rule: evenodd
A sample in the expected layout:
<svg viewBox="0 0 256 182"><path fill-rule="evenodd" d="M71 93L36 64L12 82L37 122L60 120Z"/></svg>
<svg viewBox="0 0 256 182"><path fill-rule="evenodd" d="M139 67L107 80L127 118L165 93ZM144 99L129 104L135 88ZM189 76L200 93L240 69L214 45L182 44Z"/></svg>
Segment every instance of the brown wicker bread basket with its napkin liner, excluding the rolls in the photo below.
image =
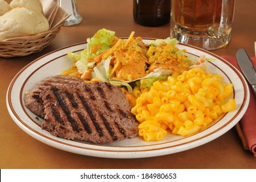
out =
<svg viewBox="0 0 256 182"><path fill-rule="evenodd" d="M52 7L48 14L48 16L45 15L50 24L48 31L0 41L0 57L24 57L32 53L38 53L48 46L60 31L65 20L69 18L67 13L59 6Z"/></svg>

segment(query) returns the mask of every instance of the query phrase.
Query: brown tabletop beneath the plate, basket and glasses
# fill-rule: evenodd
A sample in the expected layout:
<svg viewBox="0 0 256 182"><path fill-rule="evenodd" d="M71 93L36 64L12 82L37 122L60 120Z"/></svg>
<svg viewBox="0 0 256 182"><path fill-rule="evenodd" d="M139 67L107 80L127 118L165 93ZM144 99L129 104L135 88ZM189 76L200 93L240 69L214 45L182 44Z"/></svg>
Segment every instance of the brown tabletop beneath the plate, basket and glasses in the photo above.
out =
<svg viewBox="0 0 256 182"><path fill-rule="evenodd" d="M29 62L61 47L86 41L101 28L127 37L131 31L144 38L167 38L170 23L161 27L143 27L133 21L133 1L77 0L83 21L62 27L52 44L40 53L26 57L0 58L0 168L256 168L256 157L246 151L234 127L197 148L179 153L144 159L105 159L69 153L48 146L27 135L10 117L6 106L7 88L12 78ZM236 1L231 42L212 51L231 55L241 47L255 56L256 1Z"/></svg>

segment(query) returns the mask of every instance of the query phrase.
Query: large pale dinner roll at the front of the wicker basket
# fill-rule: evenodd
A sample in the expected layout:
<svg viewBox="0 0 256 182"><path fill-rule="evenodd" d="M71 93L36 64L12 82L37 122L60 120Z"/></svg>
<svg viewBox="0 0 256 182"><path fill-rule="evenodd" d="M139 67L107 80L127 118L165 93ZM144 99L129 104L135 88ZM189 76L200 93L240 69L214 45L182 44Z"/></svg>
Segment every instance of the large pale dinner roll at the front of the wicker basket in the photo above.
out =
<svg viewBox="0 0 256 182"><path fill-rule="evenodd" d="M0 16L0 40L48 31L49 23L40 12L24 7L13 8Z"/></svg>

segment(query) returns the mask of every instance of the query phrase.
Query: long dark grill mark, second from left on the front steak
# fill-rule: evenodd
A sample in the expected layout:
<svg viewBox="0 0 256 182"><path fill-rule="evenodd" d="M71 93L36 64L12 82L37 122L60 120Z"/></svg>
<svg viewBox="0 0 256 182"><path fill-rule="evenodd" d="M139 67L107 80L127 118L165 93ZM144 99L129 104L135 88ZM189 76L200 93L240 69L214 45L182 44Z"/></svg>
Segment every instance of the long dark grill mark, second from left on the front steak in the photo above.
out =
<svg viewBox="0 0 256 182"><path fill-rule="evenodd" d="M80 130L78 129L78 123L74 120L74 118L72 118L71 112L69 111L69 108L67 107L61 92L59 92L56 87L52 88L52 92L54 92L54 95L56 96L57 102L59 103L61 109L65 112L67 120L71 122L73 130L79 133Z"/></svg>

